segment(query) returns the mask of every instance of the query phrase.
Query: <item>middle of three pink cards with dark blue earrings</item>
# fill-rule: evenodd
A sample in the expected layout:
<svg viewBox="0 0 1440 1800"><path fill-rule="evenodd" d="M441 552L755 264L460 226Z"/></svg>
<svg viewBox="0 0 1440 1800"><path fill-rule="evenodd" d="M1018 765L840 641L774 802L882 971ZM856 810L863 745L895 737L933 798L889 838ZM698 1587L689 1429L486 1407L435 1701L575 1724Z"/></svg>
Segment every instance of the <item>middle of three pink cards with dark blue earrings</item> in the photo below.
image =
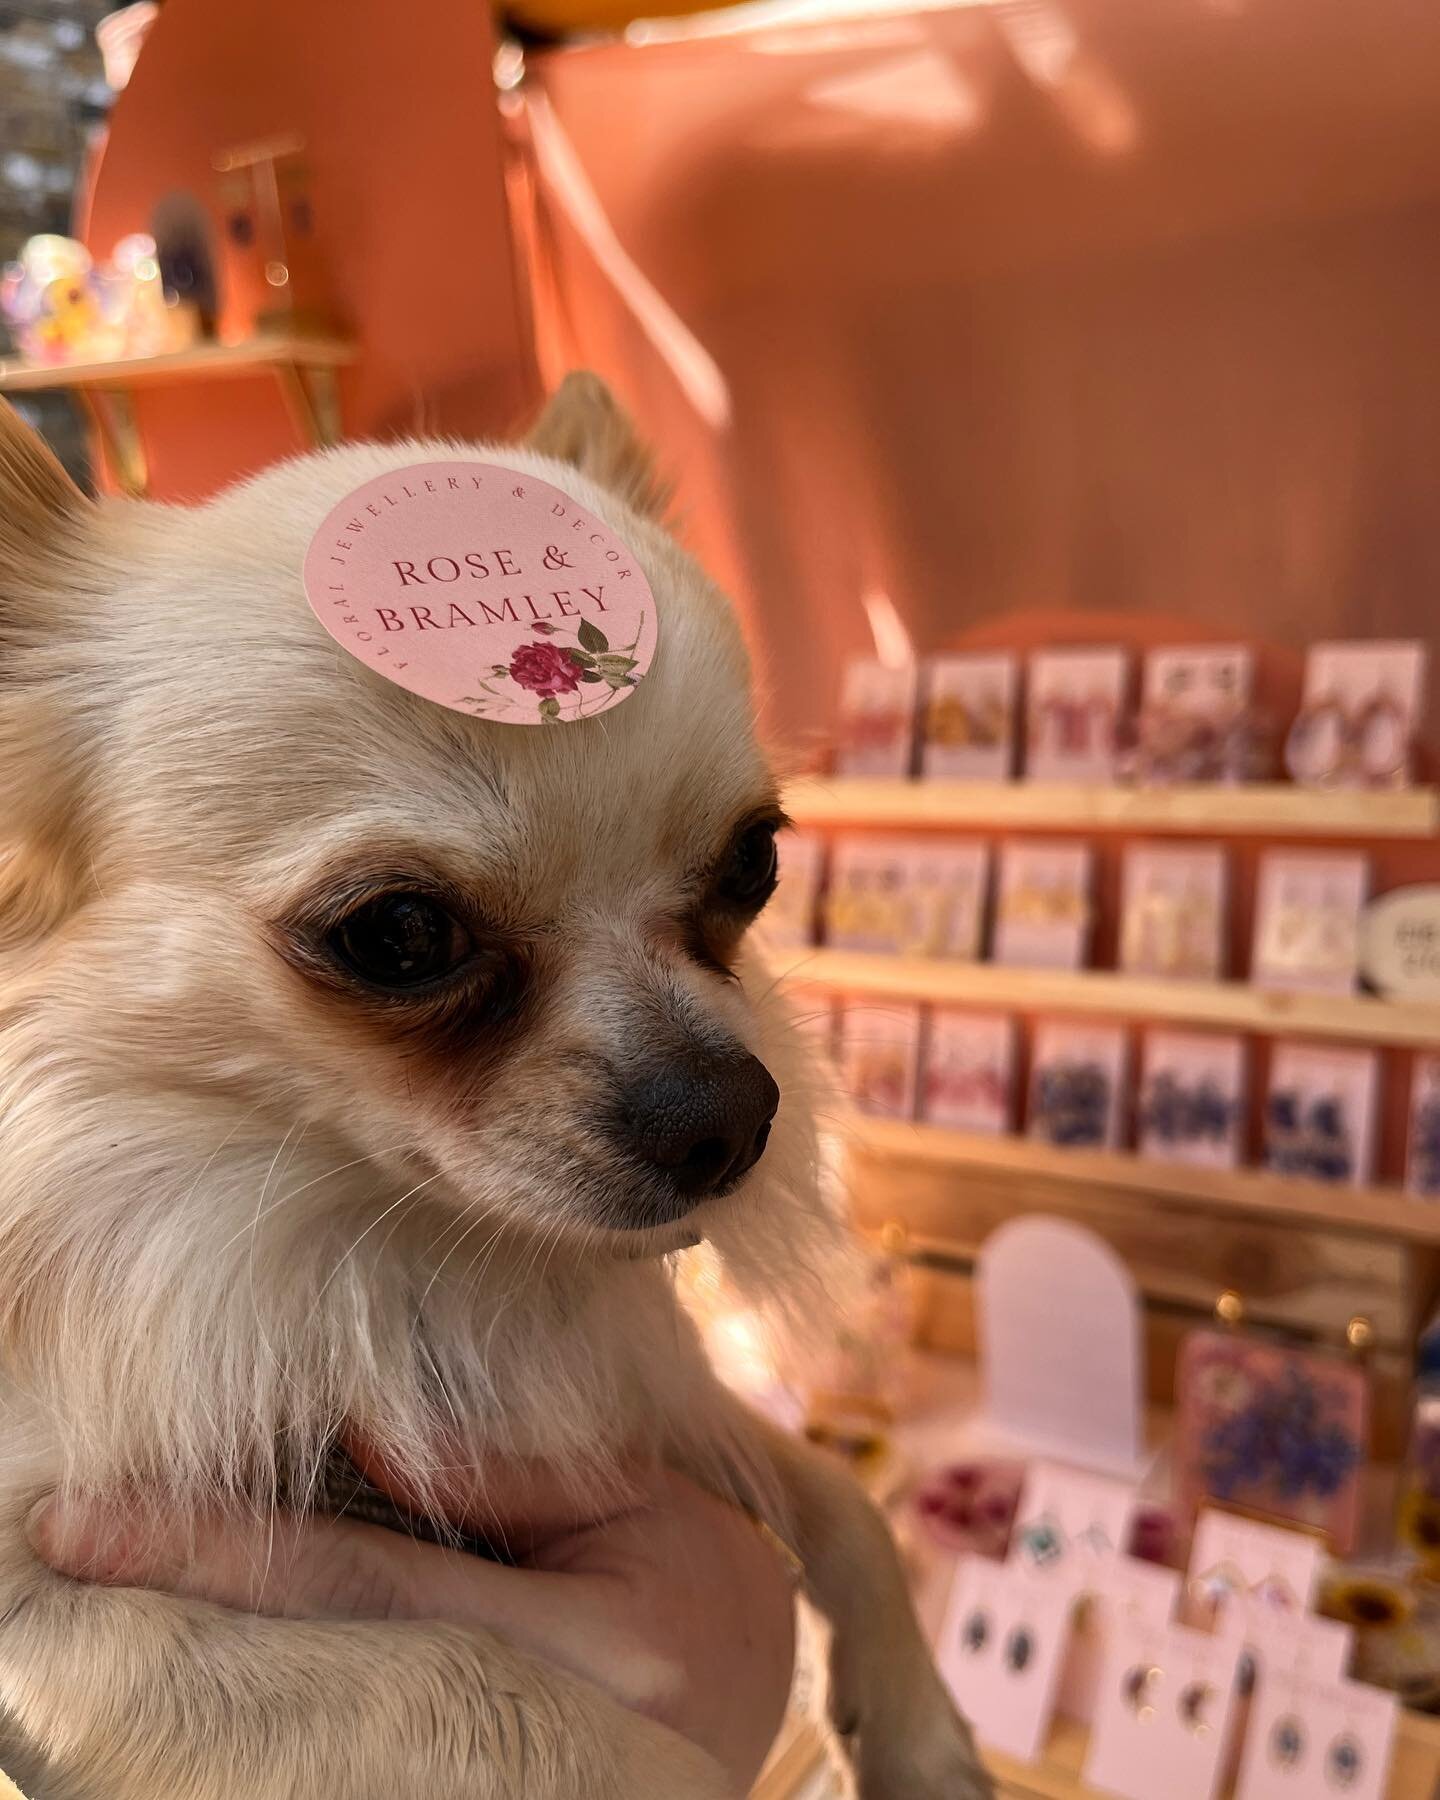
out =
<svg viewBox="0 0 1440 1800"><path fill-rule="evenodd" d="M1141 1156L1235 1168L1246 1107L1246 1044L1210 1031L1150 1031L1139 1089Z"/></svg>

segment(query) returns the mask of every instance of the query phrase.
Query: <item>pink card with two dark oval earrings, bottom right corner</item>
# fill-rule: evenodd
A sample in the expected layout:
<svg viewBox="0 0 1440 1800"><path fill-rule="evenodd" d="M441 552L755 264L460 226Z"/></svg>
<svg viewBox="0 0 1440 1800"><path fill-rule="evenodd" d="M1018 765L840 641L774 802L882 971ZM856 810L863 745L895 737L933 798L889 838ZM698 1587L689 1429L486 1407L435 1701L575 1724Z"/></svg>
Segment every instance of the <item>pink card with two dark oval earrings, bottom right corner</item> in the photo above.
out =
<svg viewBox="0 0 1440 1800"><path fill-rule="evenodd" d="M1381 1688L1264 1669L1235 1800L1384 1800L1397 1717Z"/></svg>

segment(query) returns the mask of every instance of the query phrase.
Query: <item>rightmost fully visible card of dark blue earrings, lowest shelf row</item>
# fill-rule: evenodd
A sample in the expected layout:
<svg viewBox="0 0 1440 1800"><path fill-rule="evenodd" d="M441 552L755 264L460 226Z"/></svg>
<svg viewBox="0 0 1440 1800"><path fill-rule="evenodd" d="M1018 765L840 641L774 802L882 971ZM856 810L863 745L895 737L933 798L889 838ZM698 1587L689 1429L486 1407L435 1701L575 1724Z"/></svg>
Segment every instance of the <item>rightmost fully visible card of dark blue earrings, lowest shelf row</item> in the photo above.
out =
<svg viewBox="0 0 1440 1800"><path fill-rule="evenodd" d="M1366 1186L1375 1168L1381 1062L1373 1049L1276 1044L1265 1096L1265 1168Z"/></svg>

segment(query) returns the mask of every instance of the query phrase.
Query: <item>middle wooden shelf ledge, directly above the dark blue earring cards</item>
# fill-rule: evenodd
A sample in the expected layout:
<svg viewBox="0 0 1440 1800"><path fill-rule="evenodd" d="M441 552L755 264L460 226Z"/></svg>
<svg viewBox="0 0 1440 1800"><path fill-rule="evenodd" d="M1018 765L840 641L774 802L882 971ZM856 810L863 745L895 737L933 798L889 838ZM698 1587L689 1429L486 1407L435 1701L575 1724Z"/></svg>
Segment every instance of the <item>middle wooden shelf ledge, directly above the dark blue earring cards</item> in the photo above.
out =
<svg viewBox="0 0 1440 1800"><path fill-rule="evenodd" d="M1087 1013L1231 1031L1440 1046L1440 1004L1361 994L1282 994L1246 981L1163 981L1103 968L1001 968L853 950L790 952L785 979L931 1006Z"/></svg>

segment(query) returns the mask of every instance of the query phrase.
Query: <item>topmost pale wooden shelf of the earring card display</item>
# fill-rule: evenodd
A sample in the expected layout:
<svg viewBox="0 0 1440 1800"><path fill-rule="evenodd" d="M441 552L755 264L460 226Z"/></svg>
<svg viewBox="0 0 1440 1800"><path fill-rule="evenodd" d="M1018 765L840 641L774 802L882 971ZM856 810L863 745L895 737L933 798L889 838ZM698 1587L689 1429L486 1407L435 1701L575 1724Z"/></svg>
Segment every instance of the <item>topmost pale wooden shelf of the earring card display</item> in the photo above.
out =
<svg viewBox="0 0 1440 1800"><path fill-rule="evenodd" d="M1436 788L1080 787L1048 781L792 781L785 810L801 826L891 830L1184 832L1215 837L1433 837Z"/></svg>

